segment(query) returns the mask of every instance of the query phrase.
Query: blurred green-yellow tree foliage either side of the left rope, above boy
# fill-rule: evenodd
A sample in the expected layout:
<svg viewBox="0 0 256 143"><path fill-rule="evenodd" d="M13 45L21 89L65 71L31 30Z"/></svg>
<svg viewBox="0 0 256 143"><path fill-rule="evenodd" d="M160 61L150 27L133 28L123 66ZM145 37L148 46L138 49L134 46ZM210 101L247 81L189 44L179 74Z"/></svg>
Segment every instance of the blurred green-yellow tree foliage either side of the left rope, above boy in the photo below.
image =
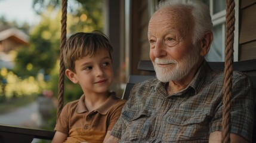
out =
<svg viewBox="0 0 256 143"><path fill-rule="evenodd" d="M73 1L73 4L75 7L69 8L70 13L67 15L67 35L103 29L101 0ZM59 55L60 7L58 0L34 1L33 8L42 18L30 32L29 46L18 49L14 69L18 76L36 76L39 71L45 75L51 73Z"/></svg>

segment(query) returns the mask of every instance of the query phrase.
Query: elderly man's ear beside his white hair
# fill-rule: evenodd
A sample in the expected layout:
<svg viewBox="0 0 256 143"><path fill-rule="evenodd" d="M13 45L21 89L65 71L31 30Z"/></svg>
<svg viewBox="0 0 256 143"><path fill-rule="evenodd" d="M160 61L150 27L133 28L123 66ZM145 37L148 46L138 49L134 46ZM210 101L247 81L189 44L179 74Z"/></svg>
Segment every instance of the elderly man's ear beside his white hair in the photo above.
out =
<svg viewBox="0 0 256 143"><path fill-rule="evenodd" d="M211 43L212 43L212 39L213 39L213 34L211 31L206 32L205 36L203 37L202 41L201 41L201 48L200 48L200 55L201 56L205 56L210 49Z"/></svg>

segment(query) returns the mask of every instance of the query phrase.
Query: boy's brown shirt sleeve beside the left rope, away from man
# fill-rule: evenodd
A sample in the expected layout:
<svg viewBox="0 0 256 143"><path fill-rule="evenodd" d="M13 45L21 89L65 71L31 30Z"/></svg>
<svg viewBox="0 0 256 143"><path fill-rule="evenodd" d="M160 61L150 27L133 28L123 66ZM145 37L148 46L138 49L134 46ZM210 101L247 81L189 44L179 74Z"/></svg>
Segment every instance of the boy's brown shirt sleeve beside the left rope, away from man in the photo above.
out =
<svg viewBox="0 0 256 143"><path fill-rule="evenodd" d="M63 107L55 125L54 131L65 133L69 135L69 110L68 104Z"/></svg>

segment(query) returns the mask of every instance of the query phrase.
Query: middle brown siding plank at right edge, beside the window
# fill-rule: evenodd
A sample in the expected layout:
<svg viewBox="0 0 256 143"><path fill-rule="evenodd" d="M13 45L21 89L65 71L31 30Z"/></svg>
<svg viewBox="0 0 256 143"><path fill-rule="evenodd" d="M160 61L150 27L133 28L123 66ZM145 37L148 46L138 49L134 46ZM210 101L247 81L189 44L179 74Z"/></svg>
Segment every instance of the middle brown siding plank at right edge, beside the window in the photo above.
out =
<svg viewBox="0 0 256 143"><path fill-rule="evenodd" d="M256 40L256 4L241 11L239 44Z"/></svg>

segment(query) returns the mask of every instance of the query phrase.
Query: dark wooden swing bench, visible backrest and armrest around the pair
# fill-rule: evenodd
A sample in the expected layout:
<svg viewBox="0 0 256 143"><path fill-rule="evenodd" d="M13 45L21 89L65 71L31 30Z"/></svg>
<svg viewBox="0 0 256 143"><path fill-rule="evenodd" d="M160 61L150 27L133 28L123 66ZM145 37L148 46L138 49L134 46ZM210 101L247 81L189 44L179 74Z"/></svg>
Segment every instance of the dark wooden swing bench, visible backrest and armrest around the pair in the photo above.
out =
<svg viewBox="0 0 256 143"><path fill-rule="evenodd" d="M233 70L242 71L249 75L252 80L254 97L256 98L256 59L248 61L238 61L233 63ZM224 70L224 62L209 62L209 65L214 70ZM123 99L129 98L129 92L132 87L137 82L142 82L147 79L155 78L155 70L151 61L140 61L138 63L138 70L149 71L149 76L142 75L130 75L128 79L127 86L122 95ZM256 105L256 103L255 103ZM256 108L254 108L254 116L256 119ZM17 126L1 125L0 124L0 142L32 142L33 139L45 139L52 140L54 136L54 131L49 130L39 130L39 129L28 129L20 128ZM254 131L252 135L256 135L256 120L254 120ZM253 136L252 142L256 142L256 136Z"/></svg>

